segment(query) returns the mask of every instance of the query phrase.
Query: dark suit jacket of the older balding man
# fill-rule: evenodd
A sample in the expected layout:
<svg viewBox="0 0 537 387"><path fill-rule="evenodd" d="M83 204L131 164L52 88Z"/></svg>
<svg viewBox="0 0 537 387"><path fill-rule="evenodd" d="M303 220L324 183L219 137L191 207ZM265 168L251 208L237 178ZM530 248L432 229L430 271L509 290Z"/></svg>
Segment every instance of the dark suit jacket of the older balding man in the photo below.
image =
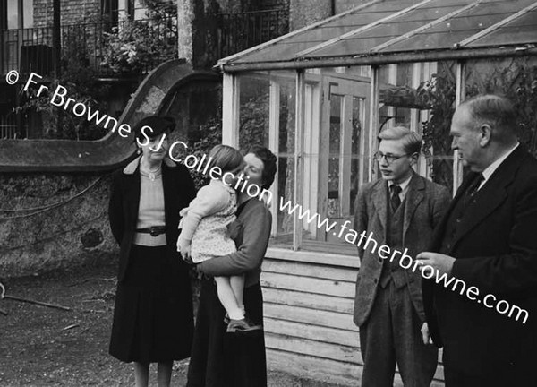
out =
<svg viewBox="0 0 537 387"><path fill-rule="evenodd" d="M476 174L470 173L432 240L439 251L449 212ZM471 301L423 280L425 311L432 339L444 345L444 365L463 374L511 374L513 386L537 386L537 160L522 145L511 153L474 196L454 236L452 275L480 291ZM529 312L524 324L483 305L505 299ZM500 311L508 305L500 304ZM512 314L516 317L517 311ZM524 315L523 315L524 317ZM529 382L533 380L535 383Z"/></svg>

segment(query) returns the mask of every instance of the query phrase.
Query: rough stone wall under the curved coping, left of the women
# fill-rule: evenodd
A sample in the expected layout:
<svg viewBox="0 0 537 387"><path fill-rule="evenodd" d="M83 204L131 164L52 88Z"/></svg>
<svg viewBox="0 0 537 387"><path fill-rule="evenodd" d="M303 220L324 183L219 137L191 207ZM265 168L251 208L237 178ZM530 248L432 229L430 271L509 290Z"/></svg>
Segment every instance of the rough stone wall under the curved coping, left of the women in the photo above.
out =
<svg viewBox="0 0 537 387"><path fill-rule="evenodd" d="M0 276L117 260L109 174L0 175Z"/></svg>

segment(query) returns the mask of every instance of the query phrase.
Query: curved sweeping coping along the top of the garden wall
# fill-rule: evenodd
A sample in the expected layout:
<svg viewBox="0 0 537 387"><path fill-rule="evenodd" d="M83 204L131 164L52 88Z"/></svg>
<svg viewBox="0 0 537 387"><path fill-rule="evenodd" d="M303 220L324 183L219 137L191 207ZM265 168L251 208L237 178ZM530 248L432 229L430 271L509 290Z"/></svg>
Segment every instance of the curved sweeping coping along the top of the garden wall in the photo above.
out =
<svg viewBox="0 0 537 387"><path fill-rule="evenodd" d="M192 70L184 59L160 64L141 82L118 118L118 127L135 125L142 117L158 114L166 96L187 82L215 80L220 75ZM109 132L97 141L2 140L0 172L95 172L120 167L136 151L133 133Z"/></svg>

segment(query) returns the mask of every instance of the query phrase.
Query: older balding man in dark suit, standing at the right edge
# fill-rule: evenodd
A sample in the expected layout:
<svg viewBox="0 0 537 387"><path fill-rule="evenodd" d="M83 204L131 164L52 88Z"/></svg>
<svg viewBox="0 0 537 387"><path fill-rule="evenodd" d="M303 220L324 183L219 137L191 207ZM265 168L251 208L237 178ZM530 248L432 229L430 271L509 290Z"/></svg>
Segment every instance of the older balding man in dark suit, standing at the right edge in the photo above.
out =
<svg viewBox="0 0 537 387"><path fill-rule="evenodd" d="M537 386L537 160L518 143L516 110L499 96L457 107L451 134L472 172L435 233L436 253L418 256L464 281L456 292L423 281L446 385Z"/></svg>

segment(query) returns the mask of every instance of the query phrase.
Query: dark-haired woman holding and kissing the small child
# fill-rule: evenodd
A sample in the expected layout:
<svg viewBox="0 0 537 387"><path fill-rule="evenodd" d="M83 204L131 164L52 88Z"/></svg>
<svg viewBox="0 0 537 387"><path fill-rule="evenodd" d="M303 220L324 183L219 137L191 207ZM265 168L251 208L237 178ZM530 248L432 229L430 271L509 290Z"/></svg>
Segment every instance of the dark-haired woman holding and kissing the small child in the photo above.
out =
<svg viewBox="0 0 537 387"><path fill-rule="evenodd" d="M277 158L266 148L244 157L243 174L250 185L267 188L274 181ZM243 187L241 184L240 187ZM267 252L272 218L260 198L238 193L237 219L230 225L237 252L201 262L200 306L188 370L188 387L265 387L267 361L263 331L226 333L226 311L217 297L216 276L245 275L244 306L254 324L263 323L260 272ZM251 192L254 192L252 189Z"/></svg>

